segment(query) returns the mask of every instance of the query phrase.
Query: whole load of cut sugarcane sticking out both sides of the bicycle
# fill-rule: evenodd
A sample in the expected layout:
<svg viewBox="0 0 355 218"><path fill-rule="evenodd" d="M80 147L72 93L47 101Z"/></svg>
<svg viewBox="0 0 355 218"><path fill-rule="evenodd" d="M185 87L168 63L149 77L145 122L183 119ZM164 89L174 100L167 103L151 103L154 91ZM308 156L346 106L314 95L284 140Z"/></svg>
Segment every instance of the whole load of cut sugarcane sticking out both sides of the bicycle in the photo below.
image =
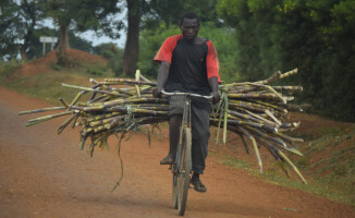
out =
<svg viewBox="0 0 355 218"><path fill-rule="evenodd" d="M287 101L293 100L293 96L289 95L301 92L302 87L269 85L296 72L297 70L284 74L277 72L268 80L254 83L220 85L219 92L222 100L216 107L216 111L211 113L210 124L218 126L218 135L223 126L223 143L225 143L228 130L237 133L243 140L247 154L249 154L249 148L244 136L248 137L252 141L261 172L262 164L258 144L270 152L287 175L286 166L289 165L306 183L294 164L281 152L284 149L302 155L292 146L294 143L303 142L303 140L293 138L283 133L299 125L299 123L283 123L283 119L287 110L301 110ZM20 114L63 110L52 116L29 120L26 125L29 126L62 116L71 116L59 126L58 134L71 122L73 123L72 128L82 126L79 147L83 149L86 140L89 137L91 140L89 145L91 155L95 146L108 146L108 137L112 134L121 133L121 142L128 131L136 131L144 124L156 125L169 119L168 100L152 97L151 93L157 84L140 75L139 71L136 72L135 80L105 78L97 82L90 78L90 82L93 83L91 87L62 84L65 87L81 90L70 104L60 98L61 107L23 111ZM283 96L282 93L286 95ZM82 96L86 94L91 94L89 99L79 101Z"/></svg>

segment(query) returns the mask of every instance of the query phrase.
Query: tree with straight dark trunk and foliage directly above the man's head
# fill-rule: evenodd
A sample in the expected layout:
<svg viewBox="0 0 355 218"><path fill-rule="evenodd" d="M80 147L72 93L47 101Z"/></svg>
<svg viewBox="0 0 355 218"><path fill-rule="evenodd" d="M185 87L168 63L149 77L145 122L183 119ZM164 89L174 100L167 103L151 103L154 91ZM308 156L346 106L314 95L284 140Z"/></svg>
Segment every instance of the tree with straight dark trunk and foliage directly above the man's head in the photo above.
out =
<svg viewBox="0 0 355 218"><path fill-rule="evenodd" d="M140 26L158 29L161 21L167 27L170 24L178 25L183 13L187 11L195 11L201 22L220 24L216 4L217 0L206 0L203 4L198 0L126 0L128 25L123 61L124 75L134 75L137 69ZM140 25L142 20L143 25Z"/></svg>

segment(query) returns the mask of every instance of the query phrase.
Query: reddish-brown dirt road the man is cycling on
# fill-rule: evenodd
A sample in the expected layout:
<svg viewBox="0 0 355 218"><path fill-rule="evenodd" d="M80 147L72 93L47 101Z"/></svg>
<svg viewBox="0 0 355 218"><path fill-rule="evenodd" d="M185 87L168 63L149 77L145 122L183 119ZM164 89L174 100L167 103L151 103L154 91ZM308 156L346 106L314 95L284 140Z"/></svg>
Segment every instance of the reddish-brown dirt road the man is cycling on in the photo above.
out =
<svg viewBox="0 0 355 218"><path fill-rule="evenodd" d="M56 134L58 121L32 128L21 110L47 107L0 87L0 217L178 217L171 207L171 173L159 166L167 140L151 148L144 135L122 145L124 178L115 140L94 158L78 149L78 130ZM164 138L162 136L162 138ZM355 217L353 207L264 183L246 172L207 161L207 193L191 190L185 217Z"/></svg>

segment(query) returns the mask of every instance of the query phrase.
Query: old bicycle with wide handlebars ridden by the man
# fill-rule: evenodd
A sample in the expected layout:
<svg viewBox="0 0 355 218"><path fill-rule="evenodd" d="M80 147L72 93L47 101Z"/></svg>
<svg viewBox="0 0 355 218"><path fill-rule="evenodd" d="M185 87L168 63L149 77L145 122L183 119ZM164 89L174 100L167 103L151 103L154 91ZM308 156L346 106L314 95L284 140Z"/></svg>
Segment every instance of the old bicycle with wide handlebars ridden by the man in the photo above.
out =
<svg viewBox="0 0 355 218"><path fill-rule="evenodd" d="M189 178L192 172L192 132L191 132L191 97L211 99L212 96L203 96L193 93L167 93L166 96L184 96L184 110L180 129L180 137L175 162L169 168L172 171L172 206L180 216L184 216L187 203Z"/></svg>

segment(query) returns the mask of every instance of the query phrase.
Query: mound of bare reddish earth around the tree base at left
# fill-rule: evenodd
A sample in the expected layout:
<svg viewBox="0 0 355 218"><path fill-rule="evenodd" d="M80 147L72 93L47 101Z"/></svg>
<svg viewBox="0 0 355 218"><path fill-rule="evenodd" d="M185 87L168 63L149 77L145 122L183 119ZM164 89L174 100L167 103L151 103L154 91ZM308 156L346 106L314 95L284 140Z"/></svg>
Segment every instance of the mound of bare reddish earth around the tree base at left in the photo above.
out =
<svg viewBox="0 0 355 218"><path fill-rule="evenodd" d="M52 50L46 56L42 56L38 58L35 61L28 62L24 64L21 68L21 74L22 76L30 76L35 75L38 73L46 73L46 72L51 72L54 71L52 68L52 64L57 62L57 50ZM102 62L106 63L107 60L100 56L91 55L85 51L81 51L77 49L66 49L66 55L70 59L70 61L75 62L75 63L96 63L96 62Z"/></svg>

